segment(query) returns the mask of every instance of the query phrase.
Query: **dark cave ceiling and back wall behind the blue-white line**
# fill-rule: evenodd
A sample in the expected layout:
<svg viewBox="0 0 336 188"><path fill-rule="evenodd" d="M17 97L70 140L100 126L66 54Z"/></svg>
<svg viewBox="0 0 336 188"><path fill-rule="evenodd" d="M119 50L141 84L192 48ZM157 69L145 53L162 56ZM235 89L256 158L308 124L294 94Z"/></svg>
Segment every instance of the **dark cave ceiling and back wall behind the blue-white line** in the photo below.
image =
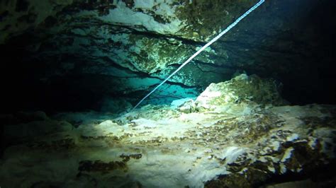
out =
<svg viewBox="0 0 336 188"><path fill-rule="evenodd" d="M1 1L4 109L130 107L256 2ZM293 104L335 103L333 8L266 1L146 102L246 72L284 83Z"/></svg>

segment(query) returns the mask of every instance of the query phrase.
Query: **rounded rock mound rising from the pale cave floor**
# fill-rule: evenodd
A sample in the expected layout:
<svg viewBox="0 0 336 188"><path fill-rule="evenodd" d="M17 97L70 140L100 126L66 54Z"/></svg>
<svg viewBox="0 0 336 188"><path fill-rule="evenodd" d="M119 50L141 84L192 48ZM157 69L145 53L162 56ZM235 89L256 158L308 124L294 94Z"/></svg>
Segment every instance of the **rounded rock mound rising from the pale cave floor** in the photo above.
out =
<svg viewBox="0 0 336 188"><path fill-rule="evenodd" d="M228 103L257 103L285 105L281 98L282 84L273 79L262 79L256 75L240 74L230 81L211 83L196 100L179 105L181 112L201 112L223 108Z"/></svg>

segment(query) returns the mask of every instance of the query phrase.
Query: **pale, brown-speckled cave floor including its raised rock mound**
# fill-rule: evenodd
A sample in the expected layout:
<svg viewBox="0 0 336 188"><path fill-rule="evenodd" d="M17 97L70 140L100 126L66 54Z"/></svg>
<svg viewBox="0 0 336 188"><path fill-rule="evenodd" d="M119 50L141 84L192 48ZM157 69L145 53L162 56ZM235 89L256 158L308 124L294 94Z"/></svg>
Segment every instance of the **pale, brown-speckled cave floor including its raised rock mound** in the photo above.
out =
<svg viewBox="0 0 336 188"><path fill-rule="evenodd" d="M256 90L252 79L264 83L264 90ZM335 163L335 105L279 105L280 97L258 103L253 94L279 94L265 87L271 82L244 74L204 93L220 86L220 98L239 90L234 86L241 81L254 91L249 98L232 93L235 100L202 112L147 105L115 118L94 112L17 114L22 122L5 126L6 140L15 142L1 160L1 186L256 187L288 176L300 178L287 181L315 178L316 185L333 185L325 182L332 174L312 174L325 175L321 169ZM196 102L218 100L204 93Z"/></svg>

